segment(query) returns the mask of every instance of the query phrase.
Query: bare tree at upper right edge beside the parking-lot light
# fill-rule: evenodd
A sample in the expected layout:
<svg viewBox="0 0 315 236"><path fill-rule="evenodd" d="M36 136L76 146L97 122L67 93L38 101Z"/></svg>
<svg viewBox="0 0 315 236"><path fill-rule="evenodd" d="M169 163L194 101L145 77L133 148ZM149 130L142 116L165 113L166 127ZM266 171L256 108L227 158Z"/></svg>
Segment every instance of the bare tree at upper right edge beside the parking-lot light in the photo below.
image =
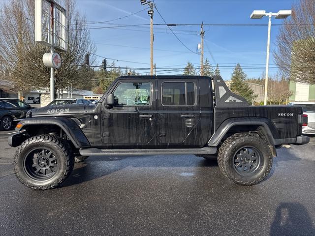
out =
<svg viewBox="0 0 315 236"><path fill-rule="evenodd" d="M273 52L276 64L290 80L315 84L315 0L300 0L284 20Z"/></svg>

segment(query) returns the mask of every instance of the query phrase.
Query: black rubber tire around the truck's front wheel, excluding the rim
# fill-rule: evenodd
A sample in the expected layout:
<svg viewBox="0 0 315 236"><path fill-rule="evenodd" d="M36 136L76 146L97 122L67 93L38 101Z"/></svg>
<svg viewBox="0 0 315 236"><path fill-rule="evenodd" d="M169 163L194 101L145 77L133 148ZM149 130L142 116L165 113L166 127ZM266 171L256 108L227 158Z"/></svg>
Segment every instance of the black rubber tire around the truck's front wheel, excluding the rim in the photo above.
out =
<svg viewBox="0 0 315 236"><path fill-rule="evenodd" d="M60 165L55 174L45 180L32 178L26 171L24 159L28 153L35 148L49 148L57 157ZM38 190L47 190L61 184L73 170L74 157L67 149L66 143L55 135L38 135L24 141L16 150L14 155L14 172L16 177L27 187Z"/></svg>

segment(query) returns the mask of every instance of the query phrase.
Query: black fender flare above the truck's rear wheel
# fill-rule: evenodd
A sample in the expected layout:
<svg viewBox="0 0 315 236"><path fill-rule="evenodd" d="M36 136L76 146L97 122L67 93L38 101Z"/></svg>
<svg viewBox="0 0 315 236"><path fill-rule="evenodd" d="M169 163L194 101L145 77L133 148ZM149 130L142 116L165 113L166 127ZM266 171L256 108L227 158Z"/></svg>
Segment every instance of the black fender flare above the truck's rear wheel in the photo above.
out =
<svg viewBox="0 0 315 236"><path fill-rule="evenodd" d="M267 118L229 118L224 120L208 142L209 146L217 147L224 135L237 125L258 125L268 141L268 145L277 145L278 131L270 119Z"/></svg>

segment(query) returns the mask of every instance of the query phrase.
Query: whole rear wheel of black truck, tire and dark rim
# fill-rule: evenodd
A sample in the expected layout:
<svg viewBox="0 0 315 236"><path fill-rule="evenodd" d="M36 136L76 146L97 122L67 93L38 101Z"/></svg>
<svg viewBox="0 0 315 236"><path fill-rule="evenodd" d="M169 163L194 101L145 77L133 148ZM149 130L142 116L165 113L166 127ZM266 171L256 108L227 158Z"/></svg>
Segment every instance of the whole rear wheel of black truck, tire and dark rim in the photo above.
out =
<svg viewBox="0 0 315 236"><path fill-rule="evenodd" d="M231 181L253 185L263 180L272 167L272 153L268 145L251 134L234 134L219 149L221 172Z"/></svg>

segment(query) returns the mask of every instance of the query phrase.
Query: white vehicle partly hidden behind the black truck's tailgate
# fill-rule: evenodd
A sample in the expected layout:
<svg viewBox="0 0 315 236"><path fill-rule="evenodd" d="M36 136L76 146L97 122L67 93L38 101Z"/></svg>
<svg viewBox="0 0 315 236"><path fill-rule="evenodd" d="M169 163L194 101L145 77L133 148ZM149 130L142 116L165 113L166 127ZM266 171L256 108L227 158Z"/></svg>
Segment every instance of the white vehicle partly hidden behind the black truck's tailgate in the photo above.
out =
<svg viewBox="0 0 315 236"><path fill-rule="evenodd" d="M315 134L315 102L290 102L289 106L303 107L303 114L308 116L307 126L303 126L303 134Z"/></svg>

